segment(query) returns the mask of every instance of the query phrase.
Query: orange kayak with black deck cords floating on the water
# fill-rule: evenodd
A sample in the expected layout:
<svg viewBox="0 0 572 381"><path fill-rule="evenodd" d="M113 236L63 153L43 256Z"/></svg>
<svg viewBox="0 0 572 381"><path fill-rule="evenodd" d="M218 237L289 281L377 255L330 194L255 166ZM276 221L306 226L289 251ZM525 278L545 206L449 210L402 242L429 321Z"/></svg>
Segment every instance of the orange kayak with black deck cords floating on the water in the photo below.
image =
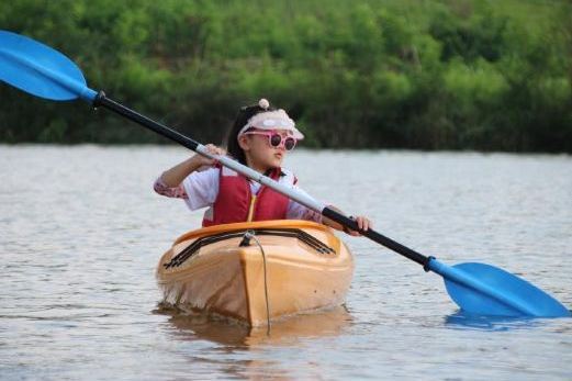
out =
<svg viewBox="0 0 572 381"><path fill-rule="evenodd" d="M189 232L157 268L167 304L249 326L340 305L352 276L352 256L329 227L288 220Z"/></svg>

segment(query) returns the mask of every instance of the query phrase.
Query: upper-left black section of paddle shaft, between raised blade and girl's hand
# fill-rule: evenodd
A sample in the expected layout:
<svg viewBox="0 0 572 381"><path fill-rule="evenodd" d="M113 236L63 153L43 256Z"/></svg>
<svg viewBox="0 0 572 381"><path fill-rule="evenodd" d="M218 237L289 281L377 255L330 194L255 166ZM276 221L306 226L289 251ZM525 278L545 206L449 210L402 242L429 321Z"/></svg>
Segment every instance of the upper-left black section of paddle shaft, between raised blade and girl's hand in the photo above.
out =
<svg viewBox="0 0 572 381"><path fill-rule="evenodd" d="M171 141L175 141L175 142L179 143L180 145L182 145L183 147L187 147L191 150L197 152L197 147L199 146L198 142L178 133L175 130L167 127L166 125L157 123L154 120L124 107L121 103L117 103L117 102L109 99L108 97L105 97L105 93L103 91L100 91L98 93L98 97L93 101L94 108L98 108L100 105L104 107L105 109L109 109L122 116L125 116L126 119L132 120L135 123L138 123L142 126L144 126L153 132L156 132L157 134L159 134L161 136L165 136Z"/></svg>

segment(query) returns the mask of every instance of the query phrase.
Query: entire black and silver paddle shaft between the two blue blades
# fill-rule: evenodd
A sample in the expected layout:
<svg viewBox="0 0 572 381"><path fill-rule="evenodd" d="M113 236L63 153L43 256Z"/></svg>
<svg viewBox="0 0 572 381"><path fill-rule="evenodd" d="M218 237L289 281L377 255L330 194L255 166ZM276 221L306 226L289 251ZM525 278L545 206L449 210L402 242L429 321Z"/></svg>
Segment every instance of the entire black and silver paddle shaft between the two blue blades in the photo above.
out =
<svg viewBox="0 0 572 381"><path fill-rule="evenodd" d="M218 159L221 161L221 164L223 164L227 167L231 167L232 169L251 178L255 181L258 181L269 188L272 188L273 190L293 199L294 201L321 213L323 216L337 222L341 226L345 226L352 231L360 232L363 236L370 238L371 240L377 242L378 244L381 244L381 245L388 247L389 249L401 254L402 256L424 266L424 268L427 269L427 264L431 259L430 257L426 257L415 250L412 250L411 248L403 246L402 244L400 244L391 238L388 238L384 235L382 235L371 228L368 229L367 232L360 231L360 228L358 227L358 224L355 220L335 211L334 209L332 209L327 205L321 204L311 198L305 198L304 195L296 193L293 189L283 187L281 184L279 184L278 182L271 180L270 178L268 178L261 173L258 173L258 172L254 171L253 169L250 169L246 166L243 166L242 164L239 164L235 160L227 159L225 157L209 155L209 153L204 152L204 149L201 149L204 146L202 146L198 142L178 133L175 130L167 127L166 125L155 122L154 120L152 120L145 115L142 115L138 112L131 110L121 103L113 101L112 99L105 97L105 93L103 91L100 91L98 93L98 97L93 101L93 107L94 108L104 107L105 109L109 109L148 130L152 130L153 132L155 132L164 137L167 137L176 143L179 143L183 147L187 147L200 155L208 156L208 157L214 158L214 159Z"/></svg>

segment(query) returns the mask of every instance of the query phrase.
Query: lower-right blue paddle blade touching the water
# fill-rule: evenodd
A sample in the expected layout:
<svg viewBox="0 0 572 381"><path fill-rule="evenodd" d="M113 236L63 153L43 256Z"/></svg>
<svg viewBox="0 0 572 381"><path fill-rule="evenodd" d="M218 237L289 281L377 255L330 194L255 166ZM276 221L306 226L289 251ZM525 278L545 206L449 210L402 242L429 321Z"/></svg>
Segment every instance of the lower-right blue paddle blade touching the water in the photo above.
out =
<svg viewBox="0 0 572 381"><path fill-rule="evenodd" d="M567 317L570 311L554 298L503 269L485 264L448 267L435 259L429 269L461 310L487 316Z"/></svg>

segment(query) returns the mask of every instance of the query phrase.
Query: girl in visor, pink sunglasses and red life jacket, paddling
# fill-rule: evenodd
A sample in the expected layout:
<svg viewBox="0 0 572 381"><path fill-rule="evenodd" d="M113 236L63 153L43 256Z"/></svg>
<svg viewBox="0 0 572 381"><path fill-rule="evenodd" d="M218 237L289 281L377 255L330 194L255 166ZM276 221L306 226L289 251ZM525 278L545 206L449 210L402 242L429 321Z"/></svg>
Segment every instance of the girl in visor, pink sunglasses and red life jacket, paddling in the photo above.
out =
<svg viewBox="0 0 572 381"><path fill-rule="evenodd" d="M226 147L228 155L240 164L303 192L298 188L294 175L281 168L287 153L294 149L302 138L304 135L284 110L276 110L261 99L256 105L240 109ZM226 154L214 145L206 147L212 154ZM245 221L310 220L359 235L201 155L165 171L155 181L154 189L166 197L184 199L192 211L210 206L204 213L203 226ZM364 216L356 217L356 222L362 231L371 226Z"/></svg>

